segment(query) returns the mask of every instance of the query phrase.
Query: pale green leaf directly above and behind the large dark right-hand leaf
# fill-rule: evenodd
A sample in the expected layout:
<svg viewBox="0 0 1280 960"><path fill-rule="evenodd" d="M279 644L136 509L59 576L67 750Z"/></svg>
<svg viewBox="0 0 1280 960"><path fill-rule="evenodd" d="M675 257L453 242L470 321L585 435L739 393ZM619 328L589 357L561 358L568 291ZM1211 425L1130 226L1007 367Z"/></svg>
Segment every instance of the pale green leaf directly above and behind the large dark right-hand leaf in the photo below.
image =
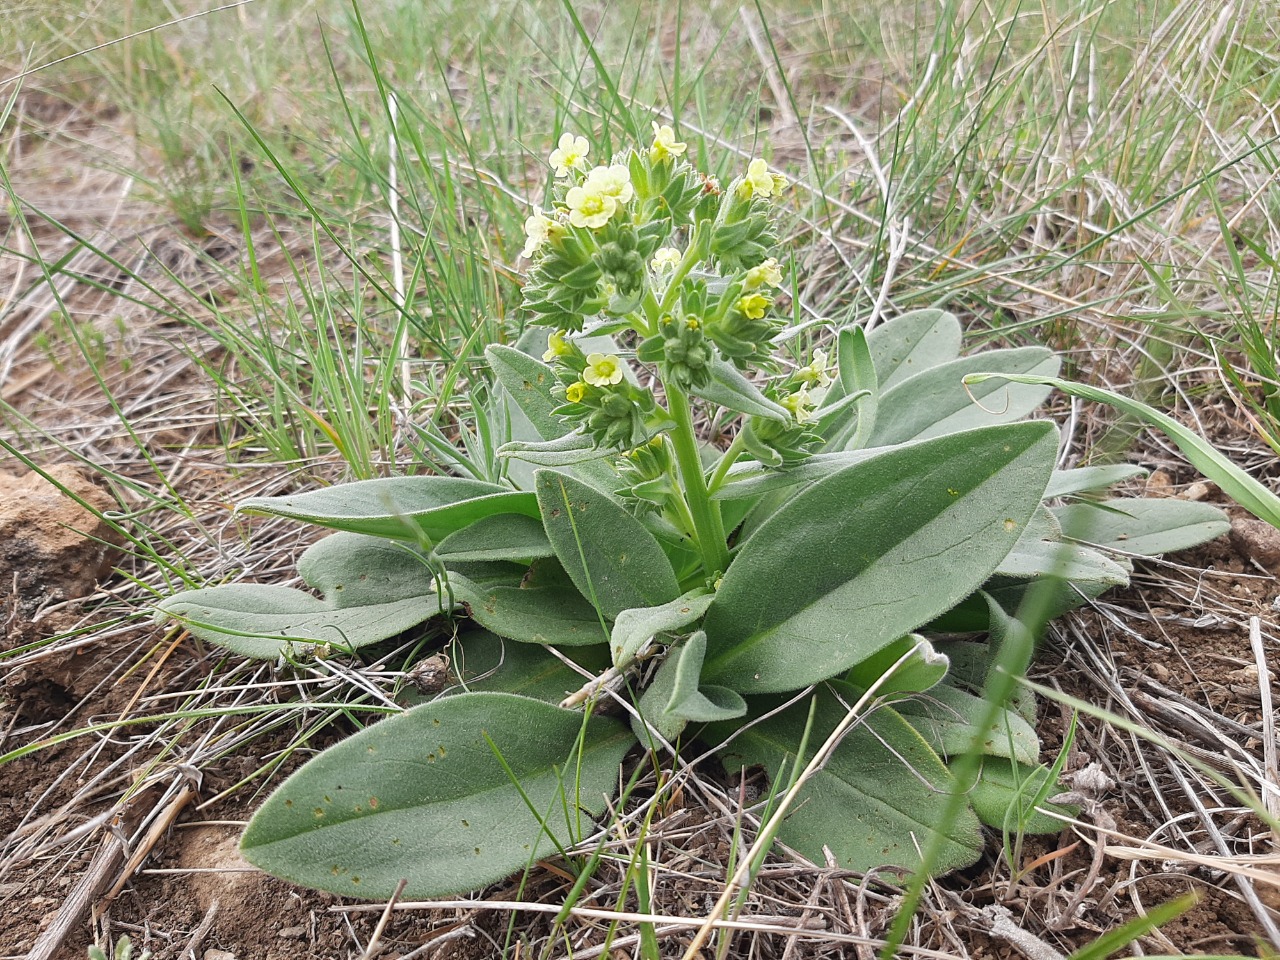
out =
<svg viewBox="0 0 1280 960"><path fill-rule="evenodd" d="M881 394L869 443L881 447L1021 420L1044 402L1048 389L997 389L995 384L965 389L969 383L965 375L975 370L1052 375L1059 366L1050 349L1019 347L977 353L925 370Z"/></svg>

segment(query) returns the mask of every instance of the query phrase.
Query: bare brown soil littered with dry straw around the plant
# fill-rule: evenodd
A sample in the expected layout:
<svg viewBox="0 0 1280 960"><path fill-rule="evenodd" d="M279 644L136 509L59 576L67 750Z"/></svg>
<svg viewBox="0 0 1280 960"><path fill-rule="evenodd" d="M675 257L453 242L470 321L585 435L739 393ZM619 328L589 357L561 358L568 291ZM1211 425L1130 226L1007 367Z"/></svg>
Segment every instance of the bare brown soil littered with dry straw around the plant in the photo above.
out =
<svg viewBox="0 0 1280 960"><path fill-rule="evenodd" d="M28 106L52 110L38 97ZM115 142L110 115L55 110L42 123L46 131L73 129L73 140ZM54 136L32 141L28 148L35 156L28 157L27 168L18 168L32 172L15 184L19 195L27 191L51 200L60 191L77 189L99 197L97 204L64 202L59 215L82 234L102 237L109 250L141 257L136 262L143 270L148 269L146 257L159 262L168 256L168 269L198 279L214 273L207 259L191 253L192 248L234 259L238 241L232 234L183 241L173 223L156 219L154 207L118 202L123 189L119 177L102 173L100 166L77 166L68 142ZM63 174L52 180L38 175L50 169ZM36 218L31 220L37 244L47 244L46 256L52 255L64 238ZM169 238L170 244L157 243L157 238ZM81 268L82 274L108 269L93 257ZM15 273L27 273L29 280L29 269L0 256L0 289L10 284L17 289ZM160 278L163 270L156 268L155 275ZM192 343L189 332L166 329L163 317L148 316L145 302L133 305L128 323L119 326L113 312L119 305L104 300L99 287L72 282L63 294L73 316L97 324L102 333L111 401L134 411L145 444L163 458L166 483L180 485L191 503L207 511L205 522L214 527L229 524L227 504L244 489L246 479L219 460L216 398L207 384L201 385L189 360L192 351L198 355L214 348ZM52 431L63 445L50 436L41 439L14 419L4 428L6 436L35 436L33 456L42 465L83 457L110 465L118 476L160 489L134 442L111 425L113 407L100 388L86 380L83 366L67 356L50 356L37 344L35 333L50 323L50 314L51 307L35 298L0 329L5 356L12 358L0 389L8 403ZM138 362L122 364L127 356ZM173 410L178 398L183 419L166 417L166 408ZM188 416L192 411L198 415ZM1222 447L1257 445L1228 420L1217 429L1221 433L1213 439ZM1160 467L1149 481L1153 494L1185 494L1197 480L1167 463L1158 451L1139 451L1135 457ZM114 486L118 493L125 489L119 483ZM1213 490L1207 495L1217 498ZM179 520L163 532L189 547L192 536ZM227 529L228 539L234 540L238 532ZM270 535L279 538L279 570L288 570L298 544L296 534L273 529ZM1158 937L1148 938L1147 952L1261 955L1266 931L1249 899L1261 899L1272 919L1280 919L1280 902L1276 887L1251 879L1243 865L1274 872L1275 837L1238 797L1143 733L1171 740L1229 781L1252 782L1242 780L1240 772L1263 765L1263 739L1274 727L1261 716L1251 618L1260 618L1267 669L1272 677L1280 671L1280 552L1274 549L1262 532L1242 522L1233 538L1160 563L1139 564L1130 589L1110 594L1053 627L1033 678L1125 717L1132 730L1082 714L1068 776L1089 764L1097 764L1103 774L1082 826L1056 837L1028 840L1016 855L1016 876L1002 840L992 835L979 867L937 882L914 942L954 956L1039 960L1052 956L1044 950L1070 952L1098 933L1193 891L1199 902L1165 925ZM214 553L209 557L210 563L216 559ZM260 732L246 741L247 746L221 755L193 744L189 749L200 755L198 765L182 755L187 740L170 740L179 745L174 755L163 750L165 737L152 735L173 731L173 721L161 718L175 705L164 699L166 695L196 690L207 680L225 692L210 694L200 703L207 705L221 696L233 712L238 689L265 684L271 675L268 668L253 672L242 664L229 666L189 639L165 634L146 616L154 600L148 590L163 590L163 579L146 557L125 553L119 566L123 573L111 575L79 600L50 607L41 593L55 586L50 582L5 599L0 750L45 745L10 759L0 776L0 835L6 837L0 850L0 957L83 957L95 940L114 941L122 933L150 948L157 960L361 956L374 937L378 913L337 911L342 901L260 874L247 868L236 850L241 824L269 786L261 778L242 781L264 762L279 760L276 773L287 772L343 731L337 726L319 730L306 750L288 756L279 754L297 740L296 728ZM1066 735L1071 710L1046 699L1041 712L1048 758ZM122 716L141 722L49 742L56 732ZM160 768L173 776L152 776ZM672 847L685 856L678 877L673 873L671 882L659 882L655 908L698 916L707 909L707 895L719 892L723 861L717 856L723 852L724 824L712 824L716 818L696 791L690 791L654 824L655 836L669 837ZM129 841L128 849L122 838ZM1143 847L1137 841L1158 846ZM137 861L131 859L134 851L143 854ZM563 869L548 864L531 878L525 895L557 902L557 895L567 891L566 877ZM788 938L763 933L744 934L739 948L742 956L756 957L854 955L852 947L836 942L833 934L883 933L893 892L891 886L777 858L764 872L749 911L800 918L818 932L813 940L797 940L801 947L794 952L787 952ZM485 896L509 900L516 893L512 882ZM1006 919L1004 925L997 916ZM397 913L380 933L379 955L388 960L495 956L508 937L509 922L506 911L454 906ZM1010 925L1025 938L1010 934ZM530 942L549 929L545 919L530 914L522 914L515 927L517 938ZM42 934L44 943L51 945L46 952L37 947ZM602 942L602 934L603 927L594 922L571 920L562 942L548 955L591 956L590 947ZM678 956L685 942L680 933L671 933L664 936L663 948ZM621 955L631 955L630 948Z"/></svg>

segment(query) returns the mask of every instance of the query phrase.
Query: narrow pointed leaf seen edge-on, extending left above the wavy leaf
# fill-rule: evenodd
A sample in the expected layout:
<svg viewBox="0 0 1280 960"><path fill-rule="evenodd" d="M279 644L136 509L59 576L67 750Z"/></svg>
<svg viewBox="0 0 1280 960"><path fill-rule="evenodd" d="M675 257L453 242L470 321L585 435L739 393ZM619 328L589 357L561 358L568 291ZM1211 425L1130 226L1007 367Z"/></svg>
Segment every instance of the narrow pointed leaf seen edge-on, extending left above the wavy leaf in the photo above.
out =
<svg viewBox="0 0 1280 960"><path fill-rule="evenodd" d="M360 480L288 497L251 497L237 509L393 540L425 534L433 541L495 513L539 516L531 493L456 476Z"/></svg>

